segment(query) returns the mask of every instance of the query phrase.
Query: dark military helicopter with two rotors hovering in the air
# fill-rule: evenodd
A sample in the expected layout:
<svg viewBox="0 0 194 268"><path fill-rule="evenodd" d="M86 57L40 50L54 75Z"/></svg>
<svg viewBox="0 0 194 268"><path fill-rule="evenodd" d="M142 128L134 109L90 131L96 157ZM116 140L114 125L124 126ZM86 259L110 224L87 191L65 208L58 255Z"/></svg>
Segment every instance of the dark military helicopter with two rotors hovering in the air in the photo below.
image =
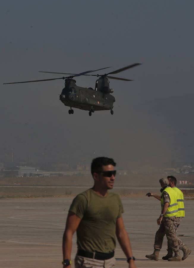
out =
<svg viewBox="0 0 194 268"><path fill-rule="evenodd" d="M115 97L111 94L114 92L112 88L109 87L109 79L116 80L124 80L124 81L133 81L130 79L119 78L109 76L109 74L117 74L122 71L125 71L129 68L140 65L141 63L134 63L124 68L118 69L116 71L111 71L108 74L89 74L95 71L100 71L106 68L105 67L97 70L85 71L79 74L69 74L69 73L57 73L57 72L47 72L47 71L39 71L42 73L50 73L50 74L69 74L67 77L59 77L59 78L51 78L51 79L42 79L42 80L32 80L32 81L23 81L23 82L12 82L12 83L4 83L5 84L18 84L18 83L30 83L30 82L42 82L42 81L51 81L57 79L65 79L65 87L63 88L59 99L64 105L70 107L68 111L69 114L73 114L73 108L78 108L81 110L89 111L89 116L94 113L94 111L100 110L111 110L111 114L113 114L113 103L115 102ZM74 77L78 77L81 75L88 76L97 76L99 77L96 80L95 88L83 88L77 86L76 81L73 79Z"/></svg>

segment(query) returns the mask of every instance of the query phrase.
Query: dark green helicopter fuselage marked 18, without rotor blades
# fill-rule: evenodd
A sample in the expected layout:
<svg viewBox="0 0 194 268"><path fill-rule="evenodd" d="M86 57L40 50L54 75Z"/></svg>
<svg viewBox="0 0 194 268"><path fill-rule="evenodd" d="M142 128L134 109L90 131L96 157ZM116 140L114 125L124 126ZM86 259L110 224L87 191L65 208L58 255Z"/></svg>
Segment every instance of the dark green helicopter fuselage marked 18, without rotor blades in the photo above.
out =
<svg viewBox="0 0 194 268"><path fill-rule="evenodd" d="M115 102L113 89L109 88L109 81L100 77L96 81L95 89L79 87L74 79L66 79L65 87L60 94L64 105L81 110L111 110Z"/></svg>

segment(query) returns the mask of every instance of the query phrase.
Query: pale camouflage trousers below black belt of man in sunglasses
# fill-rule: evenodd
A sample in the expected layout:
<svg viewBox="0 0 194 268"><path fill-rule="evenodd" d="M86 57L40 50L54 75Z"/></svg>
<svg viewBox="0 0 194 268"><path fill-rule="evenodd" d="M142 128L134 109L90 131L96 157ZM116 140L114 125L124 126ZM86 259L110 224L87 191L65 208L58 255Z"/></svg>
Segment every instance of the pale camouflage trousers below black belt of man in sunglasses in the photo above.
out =
<svg viewBox="0 0 194 268"><path fill-rule="evenodd" d="M75 256L75 268L115 268L115 258L108 260L97 260L82 256Z"/></svg>

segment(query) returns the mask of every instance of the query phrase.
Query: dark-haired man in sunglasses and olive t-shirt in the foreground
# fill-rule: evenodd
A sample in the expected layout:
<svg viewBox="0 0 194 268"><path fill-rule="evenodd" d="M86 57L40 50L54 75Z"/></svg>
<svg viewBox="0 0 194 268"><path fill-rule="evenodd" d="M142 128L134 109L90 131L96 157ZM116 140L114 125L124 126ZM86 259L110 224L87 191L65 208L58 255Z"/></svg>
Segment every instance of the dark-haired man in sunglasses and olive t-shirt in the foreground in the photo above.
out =
<svg viewBox="0 0 194 268"><path fill-rule="evenodd" d="M94 186L78 194L69 209L63 235L64 267L71 267L72 236L77 233L78 251L75 267L115 267L116 237L135 268L130 240L122 219L123 206L119 195L110 192L114 185L116 163L112 158L93 159L91 173Z"/></svg>

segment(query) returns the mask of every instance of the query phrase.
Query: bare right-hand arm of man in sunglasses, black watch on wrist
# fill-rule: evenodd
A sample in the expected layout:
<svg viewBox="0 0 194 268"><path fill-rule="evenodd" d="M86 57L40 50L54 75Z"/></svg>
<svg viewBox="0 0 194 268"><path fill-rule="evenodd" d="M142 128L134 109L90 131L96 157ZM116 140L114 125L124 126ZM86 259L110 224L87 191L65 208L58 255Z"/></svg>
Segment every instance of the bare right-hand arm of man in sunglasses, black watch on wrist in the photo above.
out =
<svg viewBox="0 0 194 268"><path fill-rule="evenodd" d="M116 237L117 237L119 244L120 244L124 254L126 255L127 259L130 257L133 257L130 240L129 240L128 234L124 228L124 222L123 222L122 217L120 217L116 220ZM133 259L131 259L129 261L129 267L136 268Z"/></svg>

